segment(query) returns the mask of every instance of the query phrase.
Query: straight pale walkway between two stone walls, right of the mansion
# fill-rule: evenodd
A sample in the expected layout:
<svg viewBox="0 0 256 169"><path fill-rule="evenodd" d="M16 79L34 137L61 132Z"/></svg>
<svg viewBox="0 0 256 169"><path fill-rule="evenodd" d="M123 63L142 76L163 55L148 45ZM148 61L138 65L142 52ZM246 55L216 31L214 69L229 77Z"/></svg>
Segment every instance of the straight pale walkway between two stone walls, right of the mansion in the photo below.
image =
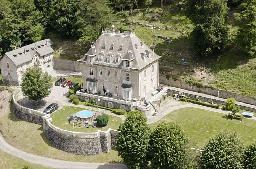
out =
<svg viewBox="0 0 256 169"><path fill-rule="evenodd" d="M197 95L197 96L201 96L201 97L207 97L207 98L211 98L211 99L215 99L215 100L220 100L220 101L226 101L227 100L227 99L224 99L224 98L220 98L220 97L216 97L216 96L212 96L212 95L208 95L208 94L204 94L204 93L193 92L193 91L190 91L190 90L185 90L185 89L181 89L181 88L175 88L175 87L171 87L171 86L168 86L168 89L176 90L176 91L184 92L184 93L189 93L189 94L193 94L193 95ZM239 102L239 101L237 101L236 104L240 105L240 106L246 106L246 107L251 107L251 108L256 109L255 105L250 105L250 104Z"/></svg>

